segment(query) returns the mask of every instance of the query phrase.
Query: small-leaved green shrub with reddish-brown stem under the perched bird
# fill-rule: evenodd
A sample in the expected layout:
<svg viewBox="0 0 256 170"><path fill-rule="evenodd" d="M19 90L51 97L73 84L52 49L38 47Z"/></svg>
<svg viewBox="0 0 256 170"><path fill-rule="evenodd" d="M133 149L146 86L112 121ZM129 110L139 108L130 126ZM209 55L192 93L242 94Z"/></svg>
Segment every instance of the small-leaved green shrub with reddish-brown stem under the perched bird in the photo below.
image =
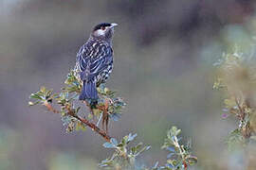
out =
<svg viewBox="0 0 256 170"><path fill-rule="evenodd" d="M31 93L28 102L29 106L42 104L47 110L60 114L66 131L72 132L75 130L85 131L90 127L106 141L103 146L114 150L113 155L99 164L105 169L152 169L152 170L177 170L187 169L193 165L197 158L192 156L191 143L180 144L181 138L178 138L181 130L177 127L172 127L167 132L167 138L162 148L170 153L167 156L167 162L163 166L158 166L158 162L154 167L146 168L144 165L137 164L137 156L142 152L151 148L150 145L138 143L135 146L130 146L130 143L135 140L137 134L130 133L124 136L121 141L109 136L107 132L108 120L113 119L118 121L121 112L125 107L125 102L114 91L109 90L104 85L101 85L97 90L100 94L100 99L96 107L90 104L90 101L84 101L80 105L86 105L89 113L82 111L82 106L77 106L79 93L82 89L82 82L77 78L74 71L70 71L64 81L64 88L60 93L53 93L52 90L41 87L36 93ZM60 109L54 106L58 105ZM97 124L91 119L97 118ZM101 128L99 127L102 123ZM105 128L105 129L104 129Z"/></svg>

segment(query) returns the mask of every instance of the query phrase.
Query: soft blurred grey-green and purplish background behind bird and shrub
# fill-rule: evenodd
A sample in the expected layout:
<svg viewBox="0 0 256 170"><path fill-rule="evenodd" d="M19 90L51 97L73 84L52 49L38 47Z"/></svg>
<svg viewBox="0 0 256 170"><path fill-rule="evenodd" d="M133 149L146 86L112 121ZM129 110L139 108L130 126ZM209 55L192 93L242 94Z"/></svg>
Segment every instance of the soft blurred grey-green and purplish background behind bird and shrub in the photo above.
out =
<svg viewBox="0 0 256 170"><path fill-rule="evenodd" d="M256 32L253 0L1 0L0 169L97 169L111 153L90 129L67 133L57 114L27 106L41 85L58 91L92 26L115 22L115 68L107 82L127 102L112 136L137 132L152 149L140 160L164 163L166 130L192 138L195 169L245 169L224 144L237 126L223 119L212 91L213 63Z"/></svg>

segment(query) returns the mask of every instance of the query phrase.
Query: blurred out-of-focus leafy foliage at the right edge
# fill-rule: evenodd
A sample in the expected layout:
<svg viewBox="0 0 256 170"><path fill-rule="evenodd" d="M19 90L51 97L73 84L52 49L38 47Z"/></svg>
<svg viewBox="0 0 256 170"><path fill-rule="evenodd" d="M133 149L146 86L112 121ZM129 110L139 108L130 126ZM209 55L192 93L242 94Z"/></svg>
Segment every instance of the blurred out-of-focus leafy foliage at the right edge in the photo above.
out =
<svg viewBox="0 0 256 170"><path fill-rule="evenodd" d="M251 61L251 55L236 46L215 63L218 73L213 89L225 97L223 117L233 115L239 122L226 140L229 149L245 146L255 138L256 67Z"/></svg>

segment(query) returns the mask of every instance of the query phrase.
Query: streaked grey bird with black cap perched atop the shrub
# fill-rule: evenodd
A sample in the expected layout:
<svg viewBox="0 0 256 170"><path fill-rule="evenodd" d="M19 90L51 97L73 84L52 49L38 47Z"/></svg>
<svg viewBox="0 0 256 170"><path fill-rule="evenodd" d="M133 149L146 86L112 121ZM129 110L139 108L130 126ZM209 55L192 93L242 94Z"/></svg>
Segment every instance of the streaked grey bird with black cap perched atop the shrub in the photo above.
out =
<svg viewBox="0 0 256 170"><path fill-rule="evenodd" d="M101 23L94 26L89 39L77 53L75 73L82 81L79 100L96 102L97 87L105 83L113 70L112 40L116 23Z"/></svg>

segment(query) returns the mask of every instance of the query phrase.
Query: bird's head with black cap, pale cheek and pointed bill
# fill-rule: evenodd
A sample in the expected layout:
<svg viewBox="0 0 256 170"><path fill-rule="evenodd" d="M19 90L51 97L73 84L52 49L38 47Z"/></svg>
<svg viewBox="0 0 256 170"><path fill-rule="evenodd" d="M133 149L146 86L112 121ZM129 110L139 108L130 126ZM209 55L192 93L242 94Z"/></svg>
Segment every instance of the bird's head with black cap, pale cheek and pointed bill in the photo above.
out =
<svg viewBox="0 0 256 170"><path fill-rule="evenodd" d="M111 42L115 26L118 26L118 24L101 23L97 26L94 26L91 36L106 42Z"/></svg>

